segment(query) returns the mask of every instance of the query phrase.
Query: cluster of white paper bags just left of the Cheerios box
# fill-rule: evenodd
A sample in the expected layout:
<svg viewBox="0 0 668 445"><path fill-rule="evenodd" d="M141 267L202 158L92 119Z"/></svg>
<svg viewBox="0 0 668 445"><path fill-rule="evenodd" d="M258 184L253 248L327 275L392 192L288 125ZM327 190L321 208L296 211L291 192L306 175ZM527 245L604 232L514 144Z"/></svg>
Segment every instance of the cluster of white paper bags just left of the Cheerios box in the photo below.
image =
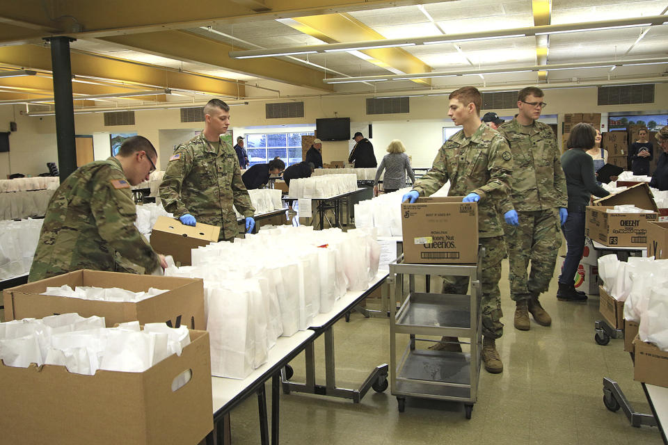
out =
<svg viewBox="0 0 668 445"><path fill-rule="evenodd" d="M401 188L355 204L355 227L375 227L379 236L401 236L401 197L409 191Z"/></svg>

